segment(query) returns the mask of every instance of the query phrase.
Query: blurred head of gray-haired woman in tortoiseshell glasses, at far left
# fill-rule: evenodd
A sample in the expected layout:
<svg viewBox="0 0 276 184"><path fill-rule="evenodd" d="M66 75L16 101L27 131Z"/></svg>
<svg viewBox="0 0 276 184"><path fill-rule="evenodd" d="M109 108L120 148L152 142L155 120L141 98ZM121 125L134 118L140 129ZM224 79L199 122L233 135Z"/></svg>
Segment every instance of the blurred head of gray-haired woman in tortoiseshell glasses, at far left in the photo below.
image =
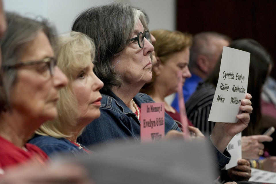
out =
<svg viewBox="0 0 276 184"><path fill-rule="evenodd" d="M55 31L46 20L7 13L7 31L1 39L3 111L22 112L43 122L55 118L57 91L67 83L55 66Z"/></svg>

